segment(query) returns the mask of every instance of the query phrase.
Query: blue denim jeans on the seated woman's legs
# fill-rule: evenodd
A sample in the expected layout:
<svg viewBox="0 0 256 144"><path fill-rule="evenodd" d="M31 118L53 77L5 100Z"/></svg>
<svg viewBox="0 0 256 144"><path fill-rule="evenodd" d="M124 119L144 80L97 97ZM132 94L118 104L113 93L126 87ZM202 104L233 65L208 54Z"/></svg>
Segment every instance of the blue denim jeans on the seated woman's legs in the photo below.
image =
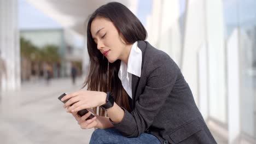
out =
<svg viewBox="0 0 256 144"><path fill-rule="evenodd" d="M96 129L91 135L90 144L159 144L161 143L157 137L147 133L142 133L138 137L125 137L117 129L108 128L108 129Z"/></svg>

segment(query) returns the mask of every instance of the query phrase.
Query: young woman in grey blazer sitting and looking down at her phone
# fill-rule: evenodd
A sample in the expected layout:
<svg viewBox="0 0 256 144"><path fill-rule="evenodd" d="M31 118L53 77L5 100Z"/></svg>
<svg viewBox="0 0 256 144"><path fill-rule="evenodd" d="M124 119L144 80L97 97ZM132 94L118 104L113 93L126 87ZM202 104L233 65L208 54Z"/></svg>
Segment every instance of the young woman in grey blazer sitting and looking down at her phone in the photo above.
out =
<svg viewBox="0 0 256 144"><path fill-rule="evenodd" d="M87 28L88 91L66 95L67 112L81 128L97 128L90 143L216 143L181 70L146 37L123 4L98 8ZM77 115L97 106L92 119L85 121L90 113Z"/></svg>

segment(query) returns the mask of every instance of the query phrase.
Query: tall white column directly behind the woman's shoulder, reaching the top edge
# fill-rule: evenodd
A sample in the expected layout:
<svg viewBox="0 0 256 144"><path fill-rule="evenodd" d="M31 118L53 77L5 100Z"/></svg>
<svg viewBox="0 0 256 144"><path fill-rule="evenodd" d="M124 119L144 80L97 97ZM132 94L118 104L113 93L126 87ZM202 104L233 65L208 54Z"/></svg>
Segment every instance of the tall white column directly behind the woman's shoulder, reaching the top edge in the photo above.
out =
<svg viewBox="0 0 256 144"><path fill-rule="evenodd" d="M198 104L197 52L205 43L204 1L188 1L181 70Z"/></svg>

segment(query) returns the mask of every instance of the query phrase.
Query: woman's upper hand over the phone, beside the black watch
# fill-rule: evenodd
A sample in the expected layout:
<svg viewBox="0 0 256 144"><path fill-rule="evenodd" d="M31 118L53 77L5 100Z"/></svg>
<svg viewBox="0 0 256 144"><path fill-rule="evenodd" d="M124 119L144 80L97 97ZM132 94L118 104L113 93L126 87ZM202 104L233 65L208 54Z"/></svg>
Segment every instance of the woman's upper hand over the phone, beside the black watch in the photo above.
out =
<svg viewBox="0 0 256 144"><path fill-rule="evenodd" d="M64 101L69 99L63 107L68 107L67 112L77 112L83 109L101 106L106 103L107 93L97 91L78 91L65 95L61 99Z"/></svg>

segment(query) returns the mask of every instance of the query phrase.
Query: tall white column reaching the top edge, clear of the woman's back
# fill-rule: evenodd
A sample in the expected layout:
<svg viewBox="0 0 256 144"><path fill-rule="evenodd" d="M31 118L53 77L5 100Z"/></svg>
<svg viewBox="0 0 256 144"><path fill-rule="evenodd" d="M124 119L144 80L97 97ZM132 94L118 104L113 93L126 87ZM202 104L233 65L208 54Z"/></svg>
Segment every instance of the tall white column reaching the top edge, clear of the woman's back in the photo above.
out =
<svg viewBox="0 0 256 144"><path fill-rule="evenodd" d="M227 123L223 1L206 1L211 118Z"/></svg>

